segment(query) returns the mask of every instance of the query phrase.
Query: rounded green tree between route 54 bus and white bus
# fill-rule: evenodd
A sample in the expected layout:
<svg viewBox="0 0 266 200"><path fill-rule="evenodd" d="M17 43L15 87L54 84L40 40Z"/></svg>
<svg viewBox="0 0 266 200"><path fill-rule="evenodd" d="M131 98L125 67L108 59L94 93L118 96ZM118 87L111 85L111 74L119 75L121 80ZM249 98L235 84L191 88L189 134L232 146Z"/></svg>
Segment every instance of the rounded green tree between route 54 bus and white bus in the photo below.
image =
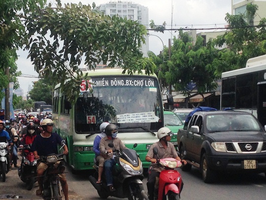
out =
<svg viewBox="0 0 266 200"><path fill-rule="evenodd" d="M167 63L162 63L161 56L149 54L158 67L158 78L162 87L173 85L175 90L182 92L190 97L192 90L197 90L197 94L203 94L207 91L216 89L215 66L213 59L218 55L218 49L214 48L211 41L207 46L203 46L203 38L198 37L195 44L193 39L179 31L180 39L173 39L171 47L171 59ZM167 48L164 49L167 52ZM194 87L189 88L190 83Z"/></svg>

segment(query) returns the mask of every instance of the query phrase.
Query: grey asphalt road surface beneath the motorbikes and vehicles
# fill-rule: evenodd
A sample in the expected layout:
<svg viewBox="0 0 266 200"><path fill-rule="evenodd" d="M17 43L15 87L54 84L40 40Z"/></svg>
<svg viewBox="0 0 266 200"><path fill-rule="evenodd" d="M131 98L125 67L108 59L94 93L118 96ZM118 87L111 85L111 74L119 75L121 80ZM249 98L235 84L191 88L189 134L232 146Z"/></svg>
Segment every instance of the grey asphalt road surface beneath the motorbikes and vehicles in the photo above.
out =
<svg viewBox="0 0 266 200"><path fill-rule="evenodd" d="M255 200L266 197L265 174L220 174L216 183L205 184L201 180L199 169L192 168L190 172L183 172L178 169L184 181L184 188L181 193L181 200ZM82 171L73 175L67 167L66 174L69 199L70 200L100 200L97 191L89 182L90 171ZM147 178L143 184L146 190ZM0 200L21 199L38 200L35 191L37 183L32 191L26 190L17 174L17 169L12 168L6 174L6 182L0 179ZM9 196L8 196L9 195ZM119 200L108 197L107 200ZM124 199L125 200L125 199Z"/></svg>

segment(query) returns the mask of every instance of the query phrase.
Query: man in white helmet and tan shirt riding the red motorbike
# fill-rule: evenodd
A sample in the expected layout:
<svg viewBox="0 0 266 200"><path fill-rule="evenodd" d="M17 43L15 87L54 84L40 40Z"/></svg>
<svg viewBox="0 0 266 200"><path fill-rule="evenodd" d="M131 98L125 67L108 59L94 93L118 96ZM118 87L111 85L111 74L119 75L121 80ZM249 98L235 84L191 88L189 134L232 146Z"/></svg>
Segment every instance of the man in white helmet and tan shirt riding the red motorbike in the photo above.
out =
<svg viewBox="0 0 266 200"><path fill-rule="evenodd" d="M165 159L165 158L174 158L176 160L181 160L176 153L174 145L169 142L171 140L172 135L173 133L169 128L167 127L160 128L157 132L157 137L159 141L151 145L145 160L151 163L156 163L157 159ZM155 147L157 147L158 149L158 155L153 154L153 149ZM185 165L187 164L186 160L181 160L181 162L183 162L183 164ZM154 200L155 182L156 179L159 178L159 175L162 170L164 170L164 167L158 166L156 164L151 165L149 169L149 176L147 179L149 200ZM156 194L158 194L158 191L156 191Z"/></svg>

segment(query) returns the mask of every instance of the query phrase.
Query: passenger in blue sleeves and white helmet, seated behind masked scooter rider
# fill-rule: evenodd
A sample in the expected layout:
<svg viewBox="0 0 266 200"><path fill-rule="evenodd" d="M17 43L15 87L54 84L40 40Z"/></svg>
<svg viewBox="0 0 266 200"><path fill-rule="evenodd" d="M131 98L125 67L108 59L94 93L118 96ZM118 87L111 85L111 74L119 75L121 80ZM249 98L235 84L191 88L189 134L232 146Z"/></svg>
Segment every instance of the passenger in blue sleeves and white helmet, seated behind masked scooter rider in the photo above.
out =
<svg viewBox="0 0 266 200"><path fill-rule="evenodd" d="M101 174L103 172L103 164L104 164L104 157L100 153L100 140L101 138L106 136L105 128L109 124L110 123L108 122L103 122L100 124L100 134L95 137L94 142L93 142L93 151L95 153L97 162L99 162L98 181L96 182L97 184L101 184Z"/></svg>

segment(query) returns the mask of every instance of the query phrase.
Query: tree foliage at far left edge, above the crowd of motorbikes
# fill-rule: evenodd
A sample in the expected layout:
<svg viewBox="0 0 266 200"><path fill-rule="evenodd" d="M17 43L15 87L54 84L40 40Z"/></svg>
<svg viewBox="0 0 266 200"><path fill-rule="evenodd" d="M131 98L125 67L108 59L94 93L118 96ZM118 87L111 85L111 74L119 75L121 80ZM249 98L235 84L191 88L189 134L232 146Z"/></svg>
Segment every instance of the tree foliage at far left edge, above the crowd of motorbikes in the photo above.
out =
<svg viewBox="0 0 266 200"><path fill-rule="evenodd" d="M23 26L17 12L29 13L37 6L42 7L46 0L0 0L0 89L8 87L9 81L14 82L14 88L18 88L16 79L21 73L17 72L16 50L22 47L26 38ZM6 69L9 68L9 77ZM0 99L3 97L0 92Z"/></svg>

